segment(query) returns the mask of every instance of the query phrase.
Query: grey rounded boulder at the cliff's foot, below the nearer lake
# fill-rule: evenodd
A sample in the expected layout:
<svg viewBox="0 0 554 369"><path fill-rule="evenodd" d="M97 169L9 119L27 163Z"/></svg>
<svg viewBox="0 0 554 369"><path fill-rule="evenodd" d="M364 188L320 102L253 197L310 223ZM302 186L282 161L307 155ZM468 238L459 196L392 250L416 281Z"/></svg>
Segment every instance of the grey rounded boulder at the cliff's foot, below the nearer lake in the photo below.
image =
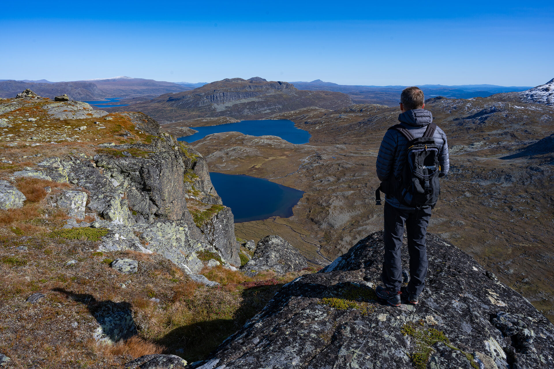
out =
<svg viewBox="0 0 554 369"><path fill-rule="evenodd" d="M286 274L307 266L306 258L289 242L279 236L266 236L258 242L254 257L241 269L251 274L269 270Z"/></svg>

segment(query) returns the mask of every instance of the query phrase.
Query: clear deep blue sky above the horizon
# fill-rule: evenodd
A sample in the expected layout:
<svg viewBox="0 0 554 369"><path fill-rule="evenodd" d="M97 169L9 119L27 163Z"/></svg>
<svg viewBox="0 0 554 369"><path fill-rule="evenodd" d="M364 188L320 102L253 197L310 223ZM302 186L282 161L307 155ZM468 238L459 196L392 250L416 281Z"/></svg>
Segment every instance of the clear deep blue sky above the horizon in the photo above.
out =
<svg viewBox="0 0 554 369"><path fill-rule="evenodd" d="M0 79L535 86L551 1L5 2Z"/></svg>

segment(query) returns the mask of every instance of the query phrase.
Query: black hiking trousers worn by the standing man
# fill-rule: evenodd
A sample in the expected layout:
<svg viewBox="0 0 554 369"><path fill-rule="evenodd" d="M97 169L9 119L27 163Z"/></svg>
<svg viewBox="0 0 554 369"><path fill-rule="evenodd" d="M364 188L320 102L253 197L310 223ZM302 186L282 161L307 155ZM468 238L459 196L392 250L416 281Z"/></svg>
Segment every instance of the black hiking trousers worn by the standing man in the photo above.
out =
<svg viewBox="0 0 554 369"><path fill-rule="evenodd" d="M381 279L384 287L398 292L402 284L402 262L400 248L404 234L404 224L408 233L408 253L410 256L410 280L408 294L419 295L425 287L427 275L427 248L425 235L431 217L431 208L400 210L384 204L384 260Z"/></svg>

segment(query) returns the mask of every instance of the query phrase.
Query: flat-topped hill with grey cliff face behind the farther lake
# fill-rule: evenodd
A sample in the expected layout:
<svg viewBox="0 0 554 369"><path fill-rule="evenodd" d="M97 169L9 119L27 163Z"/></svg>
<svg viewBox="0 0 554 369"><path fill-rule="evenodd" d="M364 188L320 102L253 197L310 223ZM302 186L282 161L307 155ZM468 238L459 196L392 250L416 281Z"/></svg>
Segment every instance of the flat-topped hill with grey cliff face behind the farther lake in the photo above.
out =
<svg viewBox="0 0 554 369"><path fill-rule="evenodd" d="M259 119L269 115L316 106L337 109L351 105L348 95L332 91L302 91L289 82L260 77L224 79L191 91L166 93L150 101L108 111L141 111L160 122L228 116Z"/></svg>

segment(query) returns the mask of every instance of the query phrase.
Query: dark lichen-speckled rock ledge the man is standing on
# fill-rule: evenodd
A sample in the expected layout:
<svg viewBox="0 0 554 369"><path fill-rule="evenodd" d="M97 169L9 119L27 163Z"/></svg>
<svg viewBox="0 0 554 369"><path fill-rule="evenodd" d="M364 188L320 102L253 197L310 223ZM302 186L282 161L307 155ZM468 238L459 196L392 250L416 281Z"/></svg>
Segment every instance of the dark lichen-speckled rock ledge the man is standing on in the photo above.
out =
<svg viewBox="0 0 554 369"><path fill-rule="evenodd" d="M435 235L427 239L429 273L420 304L405 298L401 308L378 303L373 288L382 236L373 233L320 273L286 284L208 360L191 367L554 367L554 326L545 316ZM402 264L408 269L406 247Z"/></svg>

